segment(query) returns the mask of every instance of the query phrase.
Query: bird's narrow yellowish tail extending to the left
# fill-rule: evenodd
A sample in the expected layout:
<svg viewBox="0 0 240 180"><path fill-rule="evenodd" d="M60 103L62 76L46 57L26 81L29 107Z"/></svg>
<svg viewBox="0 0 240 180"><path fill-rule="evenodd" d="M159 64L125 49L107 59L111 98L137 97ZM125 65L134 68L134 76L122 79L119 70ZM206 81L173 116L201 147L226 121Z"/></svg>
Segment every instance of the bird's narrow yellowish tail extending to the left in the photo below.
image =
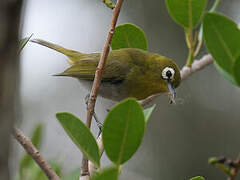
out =
<svg viewBox="0 0 240 180"><path fill-rule="evenodd" d="M58 52L60 52L64 55L68 56L70 59L74 58L74 57L79 57L79 56L84 55L83 53L80 53L78 51L74 51L74 50L71 50L71 49L66 49L62 46L59 46L59 45L56 45L56 44L53 44L51 42L44 41L44 40L41 40L41 39L32 39L30 41L34 42L34 43L37 43L37 44L40 44L42 46L46 46L46 47L51 48L55 51L58 51Z"/></svg>

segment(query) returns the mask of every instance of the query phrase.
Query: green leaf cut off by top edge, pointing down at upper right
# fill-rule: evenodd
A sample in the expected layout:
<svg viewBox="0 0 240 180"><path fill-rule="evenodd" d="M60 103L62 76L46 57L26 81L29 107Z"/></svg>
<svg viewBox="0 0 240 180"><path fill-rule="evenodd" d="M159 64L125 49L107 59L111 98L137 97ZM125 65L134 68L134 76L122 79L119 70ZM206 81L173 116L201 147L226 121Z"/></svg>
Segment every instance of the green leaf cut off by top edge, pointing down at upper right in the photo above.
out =
<svg viewBox="0 0 240 180"><path fill-rule="evenodd" d="M184 28L195 28L203 15L206 0L165 0L169 14Z"/></svg>

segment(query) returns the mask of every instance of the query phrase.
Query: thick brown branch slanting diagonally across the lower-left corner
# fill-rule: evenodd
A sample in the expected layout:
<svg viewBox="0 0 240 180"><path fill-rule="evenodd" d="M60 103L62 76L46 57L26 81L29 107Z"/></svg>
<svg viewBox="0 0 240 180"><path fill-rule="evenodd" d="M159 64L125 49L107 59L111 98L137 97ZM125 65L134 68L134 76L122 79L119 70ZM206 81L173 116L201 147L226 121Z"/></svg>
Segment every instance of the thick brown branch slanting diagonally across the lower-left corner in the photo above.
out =
<svg viewBox="0 0 240 180"><path fill-rule="evenodd" d="M13 128L13 135L16 140L23 146L25 151L33 158L33 160L38 164L38 166L42 169L45 175L50 180L60 180L56 172L52 169L52 167L43 159L40 152L33 145L31 139L24 136L22 131L18 128Z"/></svg>

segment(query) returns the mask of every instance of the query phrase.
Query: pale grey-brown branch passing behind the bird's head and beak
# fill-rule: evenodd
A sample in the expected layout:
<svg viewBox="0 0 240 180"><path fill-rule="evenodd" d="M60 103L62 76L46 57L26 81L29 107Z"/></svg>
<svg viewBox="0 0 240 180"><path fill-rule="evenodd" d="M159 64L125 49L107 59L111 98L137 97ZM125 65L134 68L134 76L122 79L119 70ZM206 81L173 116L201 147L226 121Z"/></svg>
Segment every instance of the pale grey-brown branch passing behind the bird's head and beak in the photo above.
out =
<svg viewBox="0 0 240 180"><path fill-rule="evenodd" d="M185 80L188 76L190 76L192 73L195 73L197 71L200 71L201 69L205 68L209 64L213 63L213 58L210 54L204 55L200 60L194 60L191 67L183 66L181 73L181 79ZM147 105L151 101L153 101L156 97L158 97L160 94L153 94L146 99L140 100L139 103L142 106Z"/></svg>

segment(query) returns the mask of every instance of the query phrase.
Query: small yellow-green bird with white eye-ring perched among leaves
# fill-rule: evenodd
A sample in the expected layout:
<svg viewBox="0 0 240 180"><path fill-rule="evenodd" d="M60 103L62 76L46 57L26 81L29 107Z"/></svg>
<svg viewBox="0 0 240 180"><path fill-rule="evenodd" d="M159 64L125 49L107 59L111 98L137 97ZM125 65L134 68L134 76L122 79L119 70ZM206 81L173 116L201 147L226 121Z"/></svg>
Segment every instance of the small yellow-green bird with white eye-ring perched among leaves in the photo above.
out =
<svg viewBox="0 0 240 180"><path fill-rule="evenodd" d="M40 39L31 41L69 58L70 67L57 76L78 78L84 86L91 88L100 53L85 54ZM169 91L175 98L175 88L180 82L180 71L173 60L141 49L124 48L109 53L99 94L120 101L127 97L142 100L152 94Z"/></svg>

